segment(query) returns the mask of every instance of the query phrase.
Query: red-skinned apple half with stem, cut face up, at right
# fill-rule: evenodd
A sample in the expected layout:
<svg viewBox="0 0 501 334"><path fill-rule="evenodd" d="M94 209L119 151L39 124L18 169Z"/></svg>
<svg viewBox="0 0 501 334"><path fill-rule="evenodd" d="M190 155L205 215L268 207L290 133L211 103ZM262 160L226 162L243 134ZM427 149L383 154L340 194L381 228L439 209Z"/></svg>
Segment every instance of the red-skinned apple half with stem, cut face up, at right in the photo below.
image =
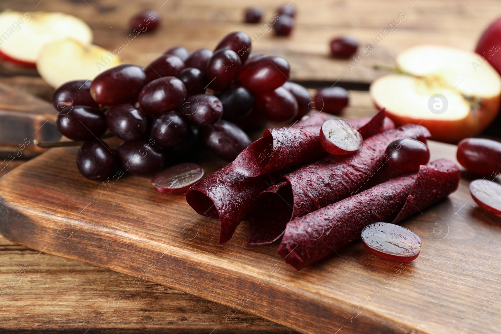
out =
<svg viewBox="0 0 501 334"><path fill-rule="evenodd" d="M396 74L376 79L370 96L397 126L421 124L432 139L457 143L485 129L496 117L501 77L473 52L419 45L397 57Z"/></svg>

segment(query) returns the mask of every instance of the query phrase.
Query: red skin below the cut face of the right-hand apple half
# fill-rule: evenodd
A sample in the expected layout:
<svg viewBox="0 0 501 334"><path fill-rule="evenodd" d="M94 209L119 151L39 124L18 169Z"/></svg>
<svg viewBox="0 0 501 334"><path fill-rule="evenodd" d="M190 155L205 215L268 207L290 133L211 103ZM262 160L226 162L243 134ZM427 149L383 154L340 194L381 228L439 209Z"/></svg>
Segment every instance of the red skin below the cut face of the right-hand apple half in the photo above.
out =
<svg viewBox="0 0 501 334"><path fill-rule="evenodd" d="M471 110L468 116L461 120L426 120L422 118L405 117L392 113L388 108L386 108L386 116L395 122L395 126L397 127L405 124L420 124L431 133L430 139L456 144L461 139L476 136L496 118L499 112L500 99L501 95L482 99L480 107L477 110ZM374 105L378 110L385 107L377 105L375 101Z"/></svg>

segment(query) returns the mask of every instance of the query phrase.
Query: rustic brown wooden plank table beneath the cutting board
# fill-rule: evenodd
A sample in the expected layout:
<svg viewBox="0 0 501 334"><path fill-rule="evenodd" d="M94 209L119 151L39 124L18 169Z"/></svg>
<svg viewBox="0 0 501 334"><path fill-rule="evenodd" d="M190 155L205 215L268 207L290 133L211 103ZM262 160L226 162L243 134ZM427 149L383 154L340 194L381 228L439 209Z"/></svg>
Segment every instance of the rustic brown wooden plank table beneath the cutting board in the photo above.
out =
<svg viewBox="0 0 501 334"><path fill-rule="evenodd" d="M261 6L271 17L281 1L252 3L223 0L168 0L126 2L120 0L4 0L0 10L61 11L86 21L94 32L94 43L108 50L125 45L125 62L146 65L173 45L193 51L213 48L226 33L240 30L254 35L262 25L241 23L242 9ZM444 43L472 50L485 26L501 13L495 0L293 0L298 8L297 26L291 38L276 38L267 32L253 45L255 52L280 55L291 63L291 79L310 87L338 85L367 88L383 73L374 64L393 64L395 55L420 43ZM156 33L139 36L130 44L128 20L140 9L155 9L163 18ZM349 34L361 46L399 13L405 19L355 68L335 61L328 54L330 38ZM266 29L266 27L264 27ZM361 48L362 50L365 47ZM0 82L49 100L53 89L36 70L0 64ZM366 92L351 92L346 118L372 114ZM23 161L13 161L8 169ZM2 175L2 174L0 174ZM259 317L239 313L223 322L226 306L145 282L127 298L117 302L134 277L99 267L40 253L0 237L0 332L201 332L289 333L289 328ZM102 321L110 305L117 305ZM94 321L97 320L97 321Z"/></svg>

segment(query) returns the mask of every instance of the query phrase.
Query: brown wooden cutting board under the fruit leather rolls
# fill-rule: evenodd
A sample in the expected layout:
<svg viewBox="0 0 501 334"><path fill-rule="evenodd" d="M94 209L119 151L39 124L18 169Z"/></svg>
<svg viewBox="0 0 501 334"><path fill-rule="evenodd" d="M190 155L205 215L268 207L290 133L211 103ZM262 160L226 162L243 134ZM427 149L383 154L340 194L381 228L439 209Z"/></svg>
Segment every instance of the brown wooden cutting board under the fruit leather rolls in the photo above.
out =
<svg viewBox="0 0 501 334"><path fill-rule="evenodd" d="M433 159L454 159L456 148L430 149ZM183 194L156 192L147 177L106 187L83 178L76 152L51 149L0 179L5 237L222 303L224 320L250 312L305 333L501 328L501 218L474 205L467 173L457 192L403 223L422 239L417 260L388 262L355 242L298 272L278 244L248 245L246 222L217 244L217 220L196 214ZM207 174L222 165L199 159Z"/></svg>

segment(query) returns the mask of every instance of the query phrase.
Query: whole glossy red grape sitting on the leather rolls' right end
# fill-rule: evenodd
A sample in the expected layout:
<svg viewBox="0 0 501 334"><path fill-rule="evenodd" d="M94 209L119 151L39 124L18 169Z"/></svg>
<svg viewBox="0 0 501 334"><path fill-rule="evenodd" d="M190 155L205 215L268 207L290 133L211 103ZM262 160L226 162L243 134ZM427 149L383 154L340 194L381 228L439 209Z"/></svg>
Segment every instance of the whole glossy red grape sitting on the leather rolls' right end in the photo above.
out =
<svg viewBox="0 0 501 334"><path fill-rule="evenodd" d="M411 172L430 161L430 150L426 144L415 139L395 140L386 148L388 166L401 172Z"/></svg>

